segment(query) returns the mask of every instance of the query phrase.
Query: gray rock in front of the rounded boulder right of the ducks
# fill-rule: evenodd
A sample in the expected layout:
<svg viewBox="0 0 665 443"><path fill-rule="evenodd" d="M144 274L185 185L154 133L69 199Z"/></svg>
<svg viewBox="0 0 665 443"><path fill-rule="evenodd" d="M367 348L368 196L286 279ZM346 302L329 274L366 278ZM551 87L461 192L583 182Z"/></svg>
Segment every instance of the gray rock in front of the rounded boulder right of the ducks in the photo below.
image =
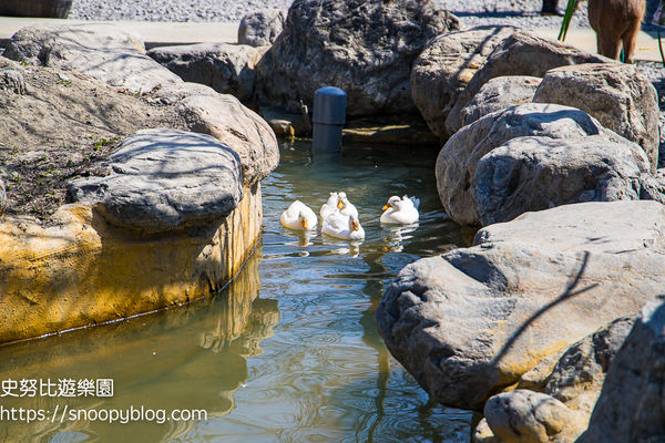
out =
<svg viewBox="0 0 665 443"><path fill-rule="evenodd" d="M518 137L480 158L469 205L475 203L487 226L571 203L653 196L665 203L664 194L651 192L657 187L646 155L628 141Z"/></svg>

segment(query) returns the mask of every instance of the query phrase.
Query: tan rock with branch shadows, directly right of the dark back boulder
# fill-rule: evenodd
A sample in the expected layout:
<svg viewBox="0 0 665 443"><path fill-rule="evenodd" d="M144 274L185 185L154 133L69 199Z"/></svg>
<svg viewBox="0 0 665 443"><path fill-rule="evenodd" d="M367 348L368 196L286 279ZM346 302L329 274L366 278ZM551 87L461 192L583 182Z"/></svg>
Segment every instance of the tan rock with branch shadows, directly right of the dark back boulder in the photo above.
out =
<svg viewBox="0 0 665 443"><path fill-rule="evenodd" d="M411 96L428 126L440 138L446 119L488 55L514 28L495 27L454 31L437 37L424 48L411 69Z"/></svg>

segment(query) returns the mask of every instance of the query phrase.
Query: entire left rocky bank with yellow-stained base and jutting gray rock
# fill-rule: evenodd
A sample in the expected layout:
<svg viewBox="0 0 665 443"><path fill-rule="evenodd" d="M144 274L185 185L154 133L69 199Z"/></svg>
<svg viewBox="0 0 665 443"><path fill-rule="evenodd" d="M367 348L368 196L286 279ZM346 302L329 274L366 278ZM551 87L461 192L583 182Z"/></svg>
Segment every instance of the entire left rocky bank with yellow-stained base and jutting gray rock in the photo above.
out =
<svg viewBox="0 0 665 443"><path fill-rule="evenodd" d="M258 181L278 161L258 115L180 79L136 94L2 56L0 71L11 73L0 87L0 140L11 141L0 150L11 186L0 220L0 341L181 305L243 267L260 237ZM127 135L154 127L218 136L157 140L104 163ZM65 204L64 184L81 177L88 187L70 196L88 204Z"/></svg>

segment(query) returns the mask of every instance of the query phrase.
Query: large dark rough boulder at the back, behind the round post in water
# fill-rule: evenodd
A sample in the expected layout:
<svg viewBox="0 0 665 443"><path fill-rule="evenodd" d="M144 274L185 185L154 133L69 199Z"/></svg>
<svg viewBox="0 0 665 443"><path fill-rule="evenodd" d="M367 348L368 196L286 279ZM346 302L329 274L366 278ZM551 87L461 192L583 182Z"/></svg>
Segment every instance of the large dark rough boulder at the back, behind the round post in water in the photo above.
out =
<svg viewBox="0 0 665 443"><path fill-rule="evenodd" d="M284 31L256 65L256 97L299 111L337 86L347 114L416 114L409 80L426 43L460 28L433 0L296 0Z"/></svg>

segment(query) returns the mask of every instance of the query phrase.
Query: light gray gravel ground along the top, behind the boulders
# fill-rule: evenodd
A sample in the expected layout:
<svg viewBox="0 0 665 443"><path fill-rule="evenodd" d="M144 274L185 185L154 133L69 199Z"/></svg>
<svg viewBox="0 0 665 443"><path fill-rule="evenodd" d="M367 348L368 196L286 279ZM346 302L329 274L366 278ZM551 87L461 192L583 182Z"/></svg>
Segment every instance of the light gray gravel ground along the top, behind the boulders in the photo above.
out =
<svg viewBox="0 0 665 443"><path fill-rule="evenodd" d="M521 28L559 28L561 18L541 17L542 0L436 0L460 17L467 27L510 24ZM248 12L288 9L291 0L74 0L70 19L135 21L239 21ZM658 0L647 0L649 18ZM566 0L559 0L565 8ZM586 2L582 1L571 29L587 28ZM653 29L645 24L644 29Z"/></svg>

